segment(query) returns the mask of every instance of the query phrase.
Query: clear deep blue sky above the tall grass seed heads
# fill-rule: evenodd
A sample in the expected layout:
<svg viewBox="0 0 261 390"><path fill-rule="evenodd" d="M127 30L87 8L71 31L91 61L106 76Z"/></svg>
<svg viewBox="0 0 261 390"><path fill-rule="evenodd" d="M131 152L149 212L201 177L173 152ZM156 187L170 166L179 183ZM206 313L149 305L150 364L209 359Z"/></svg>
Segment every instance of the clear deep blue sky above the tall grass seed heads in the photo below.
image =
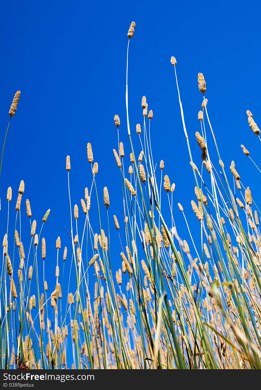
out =
<svg viewBox="0 0 261 390"><path fill-rule="evenodd" d="M202 72L207 82L208 112L224 163L228 166L234 159L243 183L250 185L253 197L259 197L257 171L240 144L250 150L258 164L260 144L248 126L245 111L254 113L260 127L260 11L257 1L4 2L0 16L1 149L9 107L18 89L21 99L11 121L0 178L2 235L7 187L13 189L14 219L17 190L24 179L23 200L30 199L32 218L39 225L51 208L44 236L46 261L53 275L57 236L61 236L62 248L69 246L64 229L70 227L65 158L71 156L72 204L80 206L84 187L91 184L87 142L91 142L99 164L100 195L103 186L109 189L110 222L115 213L123 224L119 171L112 154L117 145L113 118L116 113L121 118L120 140L128 154L125 67L126 34L132 20L136 22L129 73L133 138L136 123L142 121L140 102L145 94L154 112L154 161L163 158L165 174L176 183L175 205L181 202L188 215L193 215L190 201L194 181L170 65L172 55L177 58L180 93L196 162L200 162L200 150L194 133L199 130L197 113L202 101L197 74ZM91 220L95 212L93 207ZM102 213L106 218L105 207ZM197 222L195 217L193 221ZM30 234L25 218L24 229L26 224Z"/></svg>

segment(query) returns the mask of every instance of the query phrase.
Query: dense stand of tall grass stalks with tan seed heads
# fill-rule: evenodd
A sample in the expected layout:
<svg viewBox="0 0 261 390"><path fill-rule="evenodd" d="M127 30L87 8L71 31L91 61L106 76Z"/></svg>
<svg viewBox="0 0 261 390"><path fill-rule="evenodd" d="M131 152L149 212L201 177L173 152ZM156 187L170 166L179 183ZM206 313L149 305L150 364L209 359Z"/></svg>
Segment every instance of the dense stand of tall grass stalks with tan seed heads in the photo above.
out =
<svg viewBox="0 0 261 390"><path fill-rule="evenodd" d="M132 22L128 32L126 85L134 28ZM198 84L203 102L196 132L199 148L193 151L201 166L196 167L186 131L176 64L172 57L170 66L177 82L195 178L191 206L201 239L195 240L196 234L190 230L182 205L178 204L180 211L173 207L175 184L165 174L164 162L153 160L150 137L153 113L148 110L145 96L141 124L131 131L126 87L128 147L119 142L120 120L115 115L118 138L113 150L120 174L124 223L119 226L116 215L110 213L107 187L103 189L102 201L98 196L101 192L96 186L98 164L94 163L90 143L87 145L89 190L85 189L80 209L73 206L70 198L73 170L70 171L67 156L71 231L67 247L61 248L59 237L56 241L56 280L51 286L45 280L43 237L49 210L39 229L29 201L22 199L25 187L22 181L15 207L15 231L9 231L14 202L11 188L7 190L7 230L3 234L0 270L1 368L16 368L17 359L30 369L71 368L71 364L73 368L94 369L261 367L260 211L250 188L240 181L235 163L232 161L228 168L222 163L208 117L201 73ZM247 115L250 128L259 136L252 114L248 111ZM133 149L131 137L140 140L138 152ZM214 138L216 150L208 149L210 138ZM242 149L249 156L243 145ZM201 153L202 160L198 158ZM98 204L95 216L98 231L93 230L89 218L92 202ZM31 236L26 236L28 229L21 226L21 210L25 205ZM107 220L101 218L101 207L107 209ZM187 225L186 237L180 237L176 224L181 215ZM84 220L82 231L78 230L78 219ZM121 253L114 252L111 229L119 232ZM21 242L21 232L23 240L28 241L28 253ZM112 274L112 261L119 263L116 275ZM70 282L74 273L75 285ZM89 291L93 278L95 288Z"/></svg>

